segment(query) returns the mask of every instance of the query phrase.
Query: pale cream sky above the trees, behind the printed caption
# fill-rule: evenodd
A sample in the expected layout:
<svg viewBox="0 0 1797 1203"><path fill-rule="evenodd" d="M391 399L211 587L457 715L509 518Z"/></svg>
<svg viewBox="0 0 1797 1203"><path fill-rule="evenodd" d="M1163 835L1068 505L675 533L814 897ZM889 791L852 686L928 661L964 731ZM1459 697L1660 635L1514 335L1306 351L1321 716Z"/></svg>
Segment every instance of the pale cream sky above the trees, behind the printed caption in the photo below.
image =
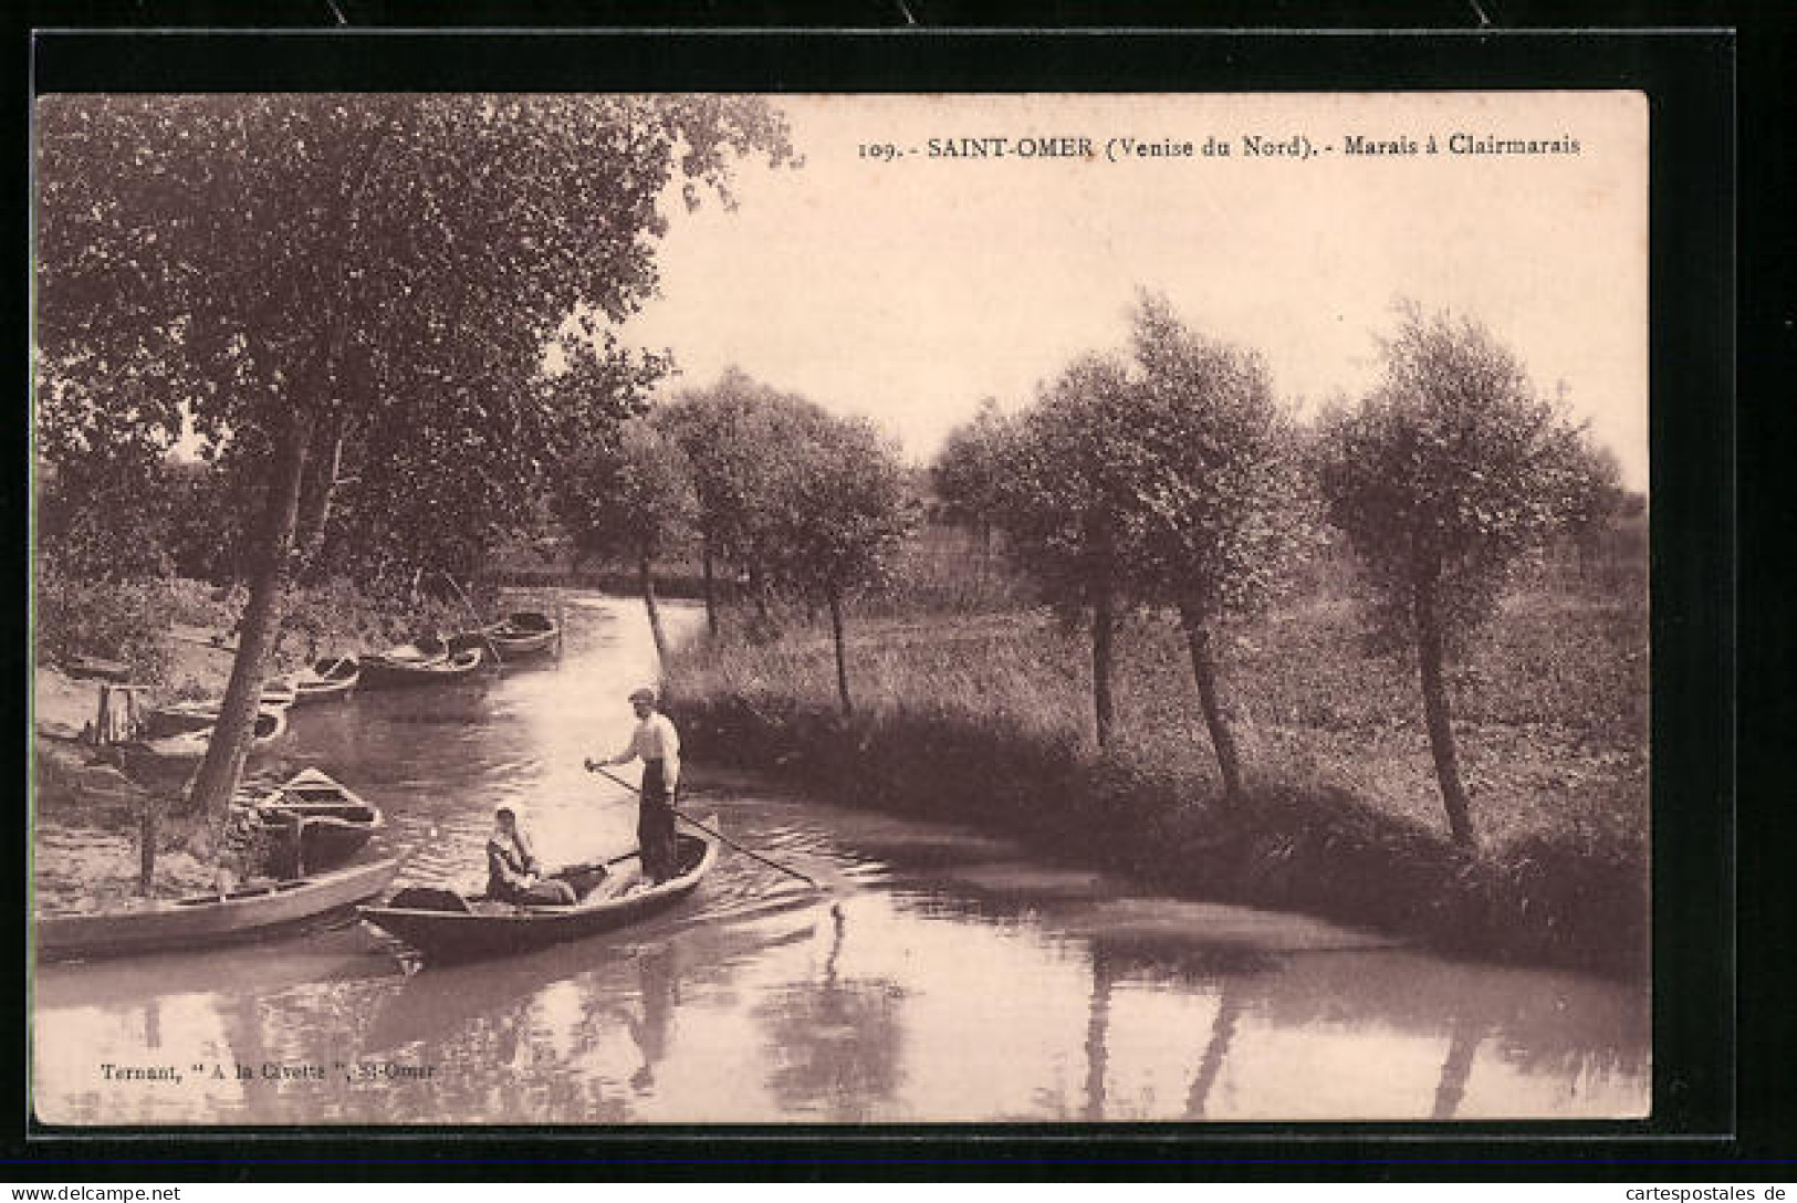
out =
<svg viewBox="0 0 1797 1203"><path fill-rule="evenodd" d="M737 212L670 208L661 296L625 338L674 388L739 364L873 417L927 461L981 397L1006 411L1121 350L1136 289L1258 348L1287 399L1359 395L1398 298L1474 316L1648 485L1648 110L1639 93L776 97L805 163L744 165ZM1245 136L1312 158L1247 156ZM1416 154L1348 154L1346 136ZM1436 136L1439 153L1427 154ZM1450 136L1578 142L1452 153ZM1231 145L1206 156L1206 136ZM929 140L1005 138L1003 158ZM1087 138L1093 158L1022 156ZM1191 142L1125 158L1112 138ZM1028 145L1026 145L1028 142ZM893 144L897 162L859 153ZM1324 151L1324 147L1330 147Z"/></svg>

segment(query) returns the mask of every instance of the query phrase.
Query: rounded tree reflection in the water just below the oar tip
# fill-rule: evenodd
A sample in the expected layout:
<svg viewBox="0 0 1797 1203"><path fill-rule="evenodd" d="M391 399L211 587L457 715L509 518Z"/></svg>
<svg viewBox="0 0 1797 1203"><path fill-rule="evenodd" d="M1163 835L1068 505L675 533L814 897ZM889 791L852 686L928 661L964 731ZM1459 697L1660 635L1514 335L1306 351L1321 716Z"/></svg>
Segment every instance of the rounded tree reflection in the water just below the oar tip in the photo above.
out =
<svg viewBox="0 0 1797 1203"><path fill-rule="evenodd" d="M818 982L801 982L757 1007L773 1061L769 1088L789 1111L830 1120L870 1119L898 1088L904 989L890 979L843 979L846 918L832 907L830 953Z"/></svg>

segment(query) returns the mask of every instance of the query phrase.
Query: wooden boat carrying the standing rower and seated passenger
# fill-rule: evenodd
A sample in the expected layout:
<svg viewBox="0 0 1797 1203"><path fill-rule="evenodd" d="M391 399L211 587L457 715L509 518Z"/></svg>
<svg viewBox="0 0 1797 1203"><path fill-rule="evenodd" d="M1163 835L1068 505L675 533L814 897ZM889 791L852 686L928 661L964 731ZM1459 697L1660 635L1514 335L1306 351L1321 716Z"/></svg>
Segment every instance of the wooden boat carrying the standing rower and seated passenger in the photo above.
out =
<svg viewBox="0 0 1797 1203"><path fill-rule="evenodd" d="M717 819L708 821L715 824ZM642 860L634 851L598 865L552 873L580 894L573 905L518 905L485 894L406 889L383 905L358 907L358 912L428 961L498 957L611 932L667 910L699 889L717 864L717 844L681 833L674 864L679 873L659 885L642 885Z"/></svg>

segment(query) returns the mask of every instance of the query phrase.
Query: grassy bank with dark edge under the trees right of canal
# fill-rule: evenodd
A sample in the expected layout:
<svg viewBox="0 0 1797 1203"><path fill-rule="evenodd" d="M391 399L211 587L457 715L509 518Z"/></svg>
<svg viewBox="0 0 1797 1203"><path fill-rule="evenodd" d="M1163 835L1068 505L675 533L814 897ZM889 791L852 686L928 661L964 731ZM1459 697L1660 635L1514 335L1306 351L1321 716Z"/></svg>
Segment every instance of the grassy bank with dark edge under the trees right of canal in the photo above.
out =
<svg viewBox="0 0 1797 1203"><path fill-rule="evenodd" d="M1633 594L1633 591L1630 591ZM1648 948L1646 614L1616 594L1506 607L1456 679L1479 855L1445 833L1414 672L1346 603L1229 648L1249 797L1222 803L1179 636L1121 639L1118 747L1096 756L1085 645L1037 616L852 627L676 659L692 754L832 797L1021 835L1206 898L1380 926L1448 952L1641 971Z"/></svg>

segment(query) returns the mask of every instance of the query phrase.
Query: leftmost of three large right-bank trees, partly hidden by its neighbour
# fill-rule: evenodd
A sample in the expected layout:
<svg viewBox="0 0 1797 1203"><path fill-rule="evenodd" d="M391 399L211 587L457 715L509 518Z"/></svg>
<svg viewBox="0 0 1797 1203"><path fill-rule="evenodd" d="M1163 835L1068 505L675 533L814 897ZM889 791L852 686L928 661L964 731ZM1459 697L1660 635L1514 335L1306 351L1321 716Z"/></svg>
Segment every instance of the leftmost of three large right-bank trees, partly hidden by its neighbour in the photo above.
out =
<svg viewBox="0 0 1797 1203"><path fill-rule="evenodd" d="M1093 713L1109 747L1114 641L1129 607L1129 506L1134 481L1121 359L1076 359L1017 420L1003 445L1001 524L1017 562L1067 623L1085 619L1093 641Z"/></svg>

